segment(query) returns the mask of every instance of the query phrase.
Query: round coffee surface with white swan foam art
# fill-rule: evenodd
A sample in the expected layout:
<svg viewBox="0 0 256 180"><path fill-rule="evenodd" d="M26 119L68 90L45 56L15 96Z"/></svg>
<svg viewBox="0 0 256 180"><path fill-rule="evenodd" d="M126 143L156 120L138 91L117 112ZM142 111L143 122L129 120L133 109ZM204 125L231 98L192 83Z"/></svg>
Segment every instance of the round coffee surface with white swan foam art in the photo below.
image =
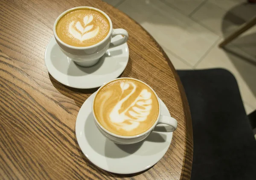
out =
<svg viewBox="0 0 256 180"><path fill-rule="evenodd" d="M152 127L158 117L159 104L152 90L142 82L117 79L99 90L93 111L108 131L133 136Z"/></svg>

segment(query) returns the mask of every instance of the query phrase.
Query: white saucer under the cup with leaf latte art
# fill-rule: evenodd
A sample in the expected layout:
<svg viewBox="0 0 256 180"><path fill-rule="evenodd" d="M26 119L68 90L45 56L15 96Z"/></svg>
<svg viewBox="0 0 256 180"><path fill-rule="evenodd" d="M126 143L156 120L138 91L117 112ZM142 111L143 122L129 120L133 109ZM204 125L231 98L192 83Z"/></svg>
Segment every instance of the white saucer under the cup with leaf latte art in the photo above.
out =
<svg viewBox="0 0 256 180"><path fill-rule="evenodd" d="M121 35L113 40L122 38ZM88 89L116 79L128 63L129 50L127 43L109 49L96 65L81 67L70 60L60 50L55 38L49 41L45 50L44 61L48 72L58 82L69 87Z"/></svg>

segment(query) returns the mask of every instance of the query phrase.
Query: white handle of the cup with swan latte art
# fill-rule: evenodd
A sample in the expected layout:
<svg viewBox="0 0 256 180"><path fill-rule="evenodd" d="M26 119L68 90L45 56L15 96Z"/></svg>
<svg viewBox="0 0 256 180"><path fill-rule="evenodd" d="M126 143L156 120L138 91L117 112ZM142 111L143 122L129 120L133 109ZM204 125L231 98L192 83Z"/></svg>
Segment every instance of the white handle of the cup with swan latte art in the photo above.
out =
<svg viewBox="0 0 256 180"><path fill-rule="evenodd" d="M154 131L156 132L173 132L177 129L177 120L170 116L160 115L160 119L157 122L158 124L167 124L168 126L156 126Z"/></svg>

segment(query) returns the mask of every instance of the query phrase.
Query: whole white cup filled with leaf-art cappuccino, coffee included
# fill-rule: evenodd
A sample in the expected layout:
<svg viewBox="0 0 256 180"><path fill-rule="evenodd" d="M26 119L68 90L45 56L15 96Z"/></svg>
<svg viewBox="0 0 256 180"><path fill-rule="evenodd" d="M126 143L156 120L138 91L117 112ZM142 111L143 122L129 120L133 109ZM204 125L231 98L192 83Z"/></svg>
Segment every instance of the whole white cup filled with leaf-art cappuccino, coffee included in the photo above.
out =
<svg viewBox="0 0 256 180"><path fill-rule="evenodd" d="M60 14L53 25L53 34L68 60L89 67L99 62L108 48L127 42L125 29L113 29L112 21L100 9L81 6ZM112 38L119 36L116 40Z"/></svg>

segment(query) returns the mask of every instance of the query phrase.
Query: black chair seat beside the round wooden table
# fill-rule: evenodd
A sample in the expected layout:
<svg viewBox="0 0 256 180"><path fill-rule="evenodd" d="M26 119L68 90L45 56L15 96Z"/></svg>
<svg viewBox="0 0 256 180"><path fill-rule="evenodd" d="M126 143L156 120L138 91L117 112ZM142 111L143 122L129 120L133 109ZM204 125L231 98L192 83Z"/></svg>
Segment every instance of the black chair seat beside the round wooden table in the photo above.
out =
<svg viewBox="0 0 256 180"><path fill-rule="evenodd" d="M235 77L178 70L192 116L191 180L256 180L256 140Z"/></svg>

